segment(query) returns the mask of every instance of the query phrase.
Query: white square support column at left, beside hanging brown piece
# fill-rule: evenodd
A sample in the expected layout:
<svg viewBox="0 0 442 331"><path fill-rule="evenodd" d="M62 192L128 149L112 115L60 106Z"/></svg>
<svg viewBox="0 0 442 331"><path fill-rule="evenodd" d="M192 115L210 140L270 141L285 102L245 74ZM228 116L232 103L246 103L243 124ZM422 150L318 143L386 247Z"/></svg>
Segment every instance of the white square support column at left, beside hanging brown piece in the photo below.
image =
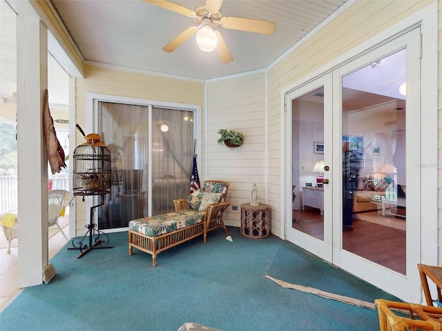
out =
<svg viewBox="0 0 442 331"><path fill-rule="evenodd" d="M19 166L19 287L42 283L48 264L48 165L42 101L48 86L47 30L17 14L17 123Z"/></svg>

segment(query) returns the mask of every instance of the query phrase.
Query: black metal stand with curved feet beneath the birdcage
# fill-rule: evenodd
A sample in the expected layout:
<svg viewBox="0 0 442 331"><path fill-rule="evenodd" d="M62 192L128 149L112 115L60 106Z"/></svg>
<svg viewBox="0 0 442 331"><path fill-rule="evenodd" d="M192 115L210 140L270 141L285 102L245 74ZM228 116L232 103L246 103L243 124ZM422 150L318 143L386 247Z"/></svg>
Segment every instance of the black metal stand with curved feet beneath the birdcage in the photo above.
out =
<svg viewBox="0 0 442 331"><path fill-rule="evenodd" d="M109 246L109 237L106 233L100 231L97 229L97 224L93 223L93 217L94 217L94 211L95 208L100 207L104 205L104 203L100 203L99 205L94 205L93 207L90 207L90 219L89 223L86 224L86 228L88 229L83 237L81 237L80 240L77 240L74 238L72 240L73 247L68 248L68 250L79 250L80 254L77 256L77 259L82 257L84 254L89 252L90 250L96 249L96 248L113 248L113 246ZM97 236L94 237L94 232L97 232ZM86 237L89 237L89 245L87 243L84 243Z"/></svg>

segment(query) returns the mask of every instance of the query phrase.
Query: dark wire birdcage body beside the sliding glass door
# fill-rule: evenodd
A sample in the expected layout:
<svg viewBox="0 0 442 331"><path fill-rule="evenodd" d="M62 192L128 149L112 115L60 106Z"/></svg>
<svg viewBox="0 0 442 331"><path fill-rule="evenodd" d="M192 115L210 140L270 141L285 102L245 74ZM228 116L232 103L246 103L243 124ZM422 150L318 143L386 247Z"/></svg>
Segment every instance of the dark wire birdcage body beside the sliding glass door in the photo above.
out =
<svg viewBox="0 0 442 331"><path fill-rule="evenodd" d="M74 195L103 195L111 192L111 152L106 146L84 143L73 154Z"/></svg>

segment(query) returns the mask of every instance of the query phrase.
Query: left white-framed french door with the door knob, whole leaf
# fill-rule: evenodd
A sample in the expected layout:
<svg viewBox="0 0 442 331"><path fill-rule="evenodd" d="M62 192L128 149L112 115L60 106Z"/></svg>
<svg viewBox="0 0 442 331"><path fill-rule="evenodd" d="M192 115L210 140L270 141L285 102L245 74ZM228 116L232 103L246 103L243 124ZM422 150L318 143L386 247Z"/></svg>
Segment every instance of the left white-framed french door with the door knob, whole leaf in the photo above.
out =
<svg viewBox="0 0 442 331"><path fill-rule="evenodd" d="M332 74L289 92L287 240L332 262Z"/></svg>

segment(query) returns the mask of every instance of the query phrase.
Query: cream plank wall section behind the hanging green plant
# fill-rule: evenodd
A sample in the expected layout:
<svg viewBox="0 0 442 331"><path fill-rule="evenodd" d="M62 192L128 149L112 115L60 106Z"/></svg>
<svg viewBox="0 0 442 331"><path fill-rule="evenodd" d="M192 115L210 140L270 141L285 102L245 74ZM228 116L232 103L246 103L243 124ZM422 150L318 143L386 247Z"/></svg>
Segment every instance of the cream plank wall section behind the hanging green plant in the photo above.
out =
<svg viewBox="0 0 442 331"><path fill-rule="evenodd" d="M249 203L253 183L265 203L265 74L250 74L207 84L207 178L230 182L227 225L240 226L240 205ZM218 130L244 134L244 145L218 145ZM238 211L232 206L238 205Z"/></svg>

